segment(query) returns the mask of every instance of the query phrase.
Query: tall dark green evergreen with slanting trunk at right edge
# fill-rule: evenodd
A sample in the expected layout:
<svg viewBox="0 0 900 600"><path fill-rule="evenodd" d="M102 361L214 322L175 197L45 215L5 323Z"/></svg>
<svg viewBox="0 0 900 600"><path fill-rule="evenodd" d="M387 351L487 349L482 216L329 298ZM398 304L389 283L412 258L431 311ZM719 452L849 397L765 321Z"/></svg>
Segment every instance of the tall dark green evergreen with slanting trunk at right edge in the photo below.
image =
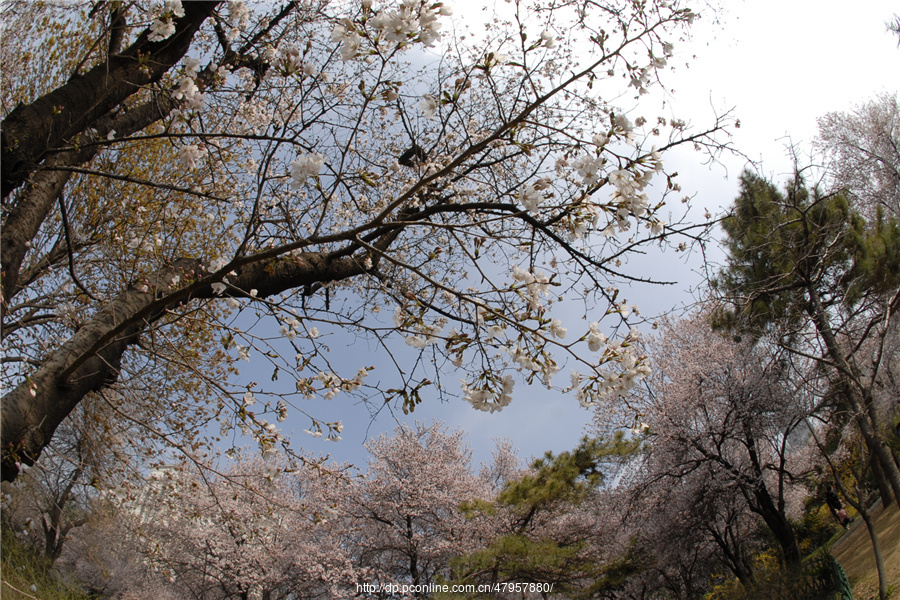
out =
<svg viewBox="0 0 900 600"><path fill-rule="evenodd" d="M800 172L783 192L744 172L723 229L728 259L713 283L731 308L719 324L815 357L876 457L884 502L888 487L900 499L900 470L872 399L877 341L896 327L900 307L896 220L879 211L866 221L844 194L808 188Z"/></svg>

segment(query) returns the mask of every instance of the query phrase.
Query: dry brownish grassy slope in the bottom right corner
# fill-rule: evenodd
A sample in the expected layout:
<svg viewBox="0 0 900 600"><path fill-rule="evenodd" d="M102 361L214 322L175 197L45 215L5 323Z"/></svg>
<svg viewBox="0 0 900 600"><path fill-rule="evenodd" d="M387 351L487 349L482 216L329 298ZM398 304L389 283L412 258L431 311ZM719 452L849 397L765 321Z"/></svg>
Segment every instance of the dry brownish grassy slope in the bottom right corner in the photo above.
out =
<svg viewBox="0 0 900 600"><path fill-rule="evenodd" d="M894 503L875 517L875 531L887 572L888 592L900 598L900 510ZM853 584L855 600L878 598L878 572L866 524L856 517L853 525L831 548L831 554L841 563Z"/></svg>

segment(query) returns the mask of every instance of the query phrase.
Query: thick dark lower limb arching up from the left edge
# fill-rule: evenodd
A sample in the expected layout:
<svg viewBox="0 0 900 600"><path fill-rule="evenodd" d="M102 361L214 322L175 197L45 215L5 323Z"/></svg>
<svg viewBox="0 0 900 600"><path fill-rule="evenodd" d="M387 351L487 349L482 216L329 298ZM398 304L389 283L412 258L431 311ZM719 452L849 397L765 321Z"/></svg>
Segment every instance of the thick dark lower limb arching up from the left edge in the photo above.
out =
<svg viewBox="0 0 900 600"><path fill-rule="evenodd" d="M395 232L389 232L382 246L395 237ZM236 275L226 276L229 287L224 296L249 296L249 290L255 289L260 298L366 272L355 258L321 253L286 257L263 253L235 261L226 269ZM218 297L211 284L225 273L198 279L201 273L199 260L182 259L152 279L137 282L99 310L40 368L3 397L4 481L17 477L17 463L31 465L37 460L59 424L87 394L116 381L123 354L147 327L191 299ZM173 286L176 276L179 281Z"/></svg>

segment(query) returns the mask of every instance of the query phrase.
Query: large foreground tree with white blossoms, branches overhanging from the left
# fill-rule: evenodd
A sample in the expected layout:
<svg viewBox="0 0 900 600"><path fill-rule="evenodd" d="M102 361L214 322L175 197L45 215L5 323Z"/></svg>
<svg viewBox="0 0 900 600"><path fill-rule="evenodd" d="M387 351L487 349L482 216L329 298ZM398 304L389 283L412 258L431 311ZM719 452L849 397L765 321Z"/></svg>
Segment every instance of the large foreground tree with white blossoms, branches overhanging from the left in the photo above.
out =
<svg viewBox="0 0 900 600"><path fill-rule="evenodd" d="M631 310L628 254L683 232L662 154L717 148L728 118L692 132L606 98L643 94L696 14L503 10L442 37L441 2L5 5L4 479L89 394L144 447L191 453L218 424L270 451L297 399L411 410L453 393L448 363L491 411L567 360L585 404L643 377L634 334L598 322ZM589 330L567 337L560 298ZM367 383L331 364L341 329L420 358ZM238 384L245 358L290 384Z"/></svg>

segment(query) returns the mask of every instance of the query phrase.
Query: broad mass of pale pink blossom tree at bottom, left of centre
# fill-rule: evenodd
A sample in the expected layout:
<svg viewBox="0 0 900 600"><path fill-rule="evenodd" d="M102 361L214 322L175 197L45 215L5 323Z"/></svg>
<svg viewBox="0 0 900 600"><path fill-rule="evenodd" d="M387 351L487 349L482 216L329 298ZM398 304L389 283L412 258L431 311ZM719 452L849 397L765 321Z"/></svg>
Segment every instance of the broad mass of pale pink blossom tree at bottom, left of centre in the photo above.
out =
<svg viewBox="0 0 900 600"><path fill-rule="evenodd" d="M359 572L330 523L325 490L335 483L312 465L259 457L216 476L187 464L154 470L144 485L115 494L117 532L131 558L104 587L142 593L150 582L209 600L346 597ZM74 562L88 572L89 560Z"/></svg>

